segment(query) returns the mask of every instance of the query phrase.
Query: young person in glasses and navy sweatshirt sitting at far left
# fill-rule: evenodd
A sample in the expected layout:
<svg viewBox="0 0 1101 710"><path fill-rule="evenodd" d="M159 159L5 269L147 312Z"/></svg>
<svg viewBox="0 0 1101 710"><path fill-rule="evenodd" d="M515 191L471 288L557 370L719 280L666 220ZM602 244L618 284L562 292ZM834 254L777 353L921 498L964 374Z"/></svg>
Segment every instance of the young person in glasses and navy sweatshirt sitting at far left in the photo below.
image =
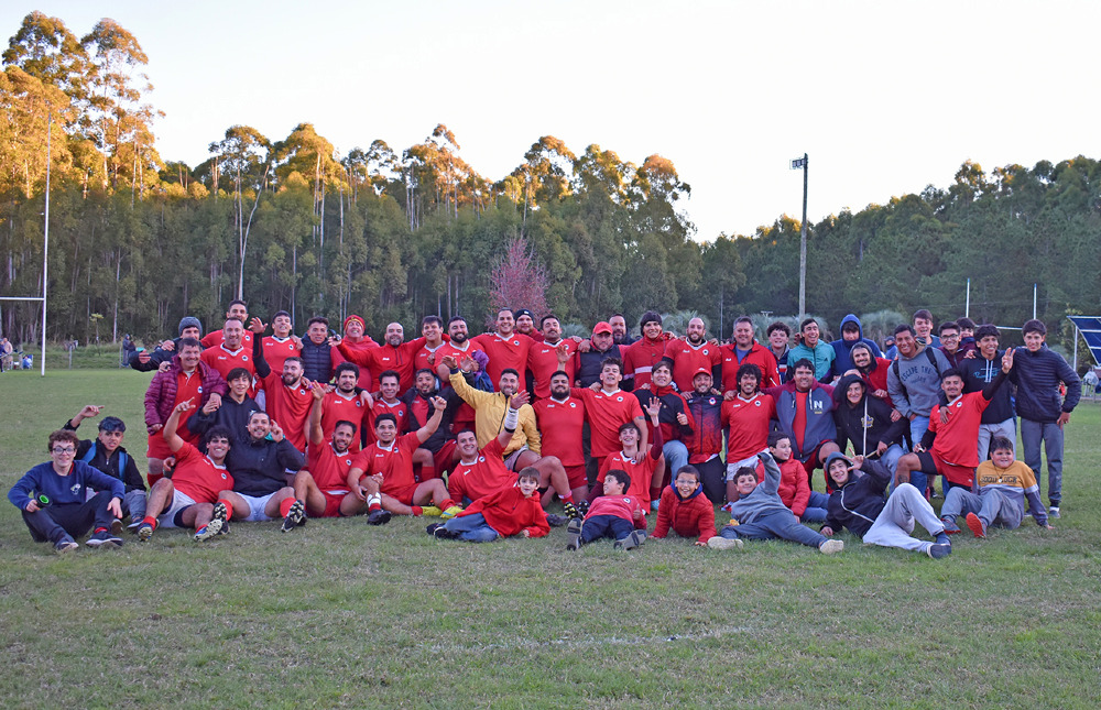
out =
<svg viewBox="0 0 1101 710"><path fill-rule="evenodd" d="M79 445L75 433L54 432L47 447L51 460L28 471L8 492L34 542L50 542L58 554L79 547L74 538L89 529L89 547L122 545L111 532L122 517L122 481L75 460ZM86 499L88 490L99 492Z"/></svg>

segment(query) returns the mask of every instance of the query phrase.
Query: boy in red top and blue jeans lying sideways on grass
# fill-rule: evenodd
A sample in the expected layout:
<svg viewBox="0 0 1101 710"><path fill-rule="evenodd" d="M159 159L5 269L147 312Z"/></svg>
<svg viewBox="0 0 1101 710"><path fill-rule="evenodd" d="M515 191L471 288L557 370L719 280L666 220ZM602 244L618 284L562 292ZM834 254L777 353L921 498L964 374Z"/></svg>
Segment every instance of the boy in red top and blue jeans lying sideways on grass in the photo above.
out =
<svg viewBox="0 0 1101 710"><path fill-rule="evenodd" d="M498 537L543 537L550 532L538 495L539 470L520 469L516 484L479 498L446 523L433 523L428 534L444 539L492 543Z"/></svg>

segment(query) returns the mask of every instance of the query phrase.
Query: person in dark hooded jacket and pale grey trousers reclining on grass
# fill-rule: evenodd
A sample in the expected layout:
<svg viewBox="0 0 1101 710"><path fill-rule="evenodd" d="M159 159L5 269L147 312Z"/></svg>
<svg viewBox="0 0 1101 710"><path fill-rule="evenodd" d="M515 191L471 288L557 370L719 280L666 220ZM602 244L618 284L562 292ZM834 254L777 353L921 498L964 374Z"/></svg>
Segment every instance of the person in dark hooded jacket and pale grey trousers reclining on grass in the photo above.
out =
<svg viewBox="0 0 1101 710"><path fill-rule="evenodd" d="M863 476L854 476L858 470ZM829 496L822 535L848 527L868 545L923 551L935 559L951 554L945 526L922 491L911 483L900 483L891 496L883 500L891 471L879 461L862 456L850 461L841 454L830 454L826 459L826 474L833 481L833 492ZM915 520L937 538L935 543L911 537Z"/></svg>

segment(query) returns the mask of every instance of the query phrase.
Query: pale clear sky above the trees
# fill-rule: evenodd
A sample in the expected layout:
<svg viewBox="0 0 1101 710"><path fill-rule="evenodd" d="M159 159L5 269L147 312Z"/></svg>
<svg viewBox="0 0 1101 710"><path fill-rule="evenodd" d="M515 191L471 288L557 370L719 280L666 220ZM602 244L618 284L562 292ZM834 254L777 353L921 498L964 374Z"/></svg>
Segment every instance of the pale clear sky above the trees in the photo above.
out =
<svg viewBox="0 0 1101 710"><path fill-rule="evenodd" d="M230 125L310 122L340 154L437 123L500 179L542 135L691 186L696 239L945 188L967 160L1098 157L1101 2L465 0L39 1L77 36L103 17L149 55L163 160L197 165Z"/></svg>

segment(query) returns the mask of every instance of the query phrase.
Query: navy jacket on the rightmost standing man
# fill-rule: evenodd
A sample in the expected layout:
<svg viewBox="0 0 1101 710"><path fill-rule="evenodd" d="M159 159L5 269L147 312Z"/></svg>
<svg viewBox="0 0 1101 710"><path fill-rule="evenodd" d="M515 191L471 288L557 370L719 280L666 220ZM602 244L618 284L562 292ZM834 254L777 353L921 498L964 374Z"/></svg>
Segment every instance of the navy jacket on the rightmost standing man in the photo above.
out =
<svg viewBox="0 0 1101 710"><path fill-rule="evenodd" d="M1078 373L1047 343L1036 352L1017 348L1010 380L1017 385L1017 414L1029 422L1054 423L1064 412L1072 412L1082 396ZM1059 382L1067 385L1066 400L1059 397Z"/></svg>

